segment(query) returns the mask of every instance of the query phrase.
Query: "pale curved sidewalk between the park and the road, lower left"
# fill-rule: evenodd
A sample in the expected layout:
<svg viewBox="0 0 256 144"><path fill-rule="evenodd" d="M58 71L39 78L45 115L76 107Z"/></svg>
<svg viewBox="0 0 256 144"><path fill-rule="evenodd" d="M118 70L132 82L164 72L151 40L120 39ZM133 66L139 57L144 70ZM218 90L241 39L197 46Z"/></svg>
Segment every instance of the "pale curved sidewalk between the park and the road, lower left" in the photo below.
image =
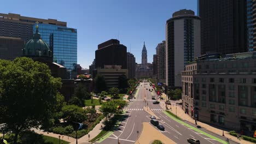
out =
<svg viewBox="0 0 256 144"><path fill-rule="evenodd" d="M103 121L104 121L104 118L87 135L84 135L83 137L78 139L78 143L83 143L83 144L84 143L91 143L91 142L89 142L88 135L90 135L90 140L91 140L91 139L94 139L94 137L96 137L98 134L100 134L102 128L104 127ZM102 125L102 128L101 128L101 125ZM70 144L75 144L75 141L71 142Z"/></svg>

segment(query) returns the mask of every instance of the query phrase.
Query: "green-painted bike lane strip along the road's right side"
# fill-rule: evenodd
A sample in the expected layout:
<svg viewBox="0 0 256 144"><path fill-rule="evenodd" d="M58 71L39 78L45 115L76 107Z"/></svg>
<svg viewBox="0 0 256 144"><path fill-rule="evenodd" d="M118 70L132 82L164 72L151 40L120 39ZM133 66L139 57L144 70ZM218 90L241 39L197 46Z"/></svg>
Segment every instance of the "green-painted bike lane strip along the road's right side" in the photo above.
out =
<svg viewBox="0 0 256 144"><path fill-rule="evenodd" d="M184 122L181 120L181 118L176 118L176 116L175 116L173 113L170 114L171 112L164 111L164 113L165 113L165 115L167 115L168 117L172 118L174 121L176 121L176 122L178 122L178 123L180 123L180 124L182 124L182 125L185 125L186 127L190 128L190 129L193 129L193 130L197 131L198 133L201 133L201 134L203 134L203 135L206 135L206 136L208 136L208 137L210 137L210 138L212 138L212 139L214 139L214 140L219 141L220 143L226 143L225 141L223 141L223 140L221 140L221 139L219 139L219 138L217 138L217 137L215 137L215 136L212 136L212 135L210 135L210 134L207 134L207 133L205 133L204 131L202 131L202 130L200 130L200 129L197 129L197 128L195 128L195 127L193 127L193 126L191 126L191 125L189 125L189 124L187 124L187 123L184 123Z"/></svg>

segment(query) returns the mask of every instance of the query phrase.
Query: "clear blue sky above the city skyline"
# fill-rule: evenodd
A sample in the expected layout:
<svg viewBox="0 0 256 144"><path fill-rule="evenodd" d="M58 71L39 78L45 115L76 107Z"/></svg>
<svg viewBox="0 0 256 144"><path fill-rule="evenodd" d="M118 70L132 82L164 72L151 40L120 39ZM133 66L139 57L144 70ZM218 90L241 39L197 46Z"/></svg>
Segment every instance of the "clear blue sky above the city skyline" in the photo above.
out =
<svg viewBox="0 0 256 144"><path fill-rule="evenodd" d="M155 47L165 40L165 23L174 11L197 11L196 0L44 0L4 1L0 13L66 21L78 30L78 64L89 68L97 45L119 38L127 51L141 63L143 41L148 62L153 61ZM119 36L118 36L119 35Z"/></svg>

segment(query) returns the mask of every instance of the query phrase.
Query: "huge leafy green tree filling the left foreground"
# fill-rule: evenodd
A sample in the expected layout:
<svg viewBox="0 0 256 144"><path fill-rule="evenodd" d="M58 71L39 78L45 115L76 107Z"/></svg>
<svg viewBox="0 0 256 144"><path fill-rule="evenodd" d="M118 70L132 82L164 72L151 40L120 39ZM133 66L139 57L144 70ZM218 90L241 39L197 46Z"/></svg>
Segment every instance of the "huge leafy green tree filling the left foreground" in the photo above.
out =
<svg viewBox="0 0 256 144"><path fill-rule="evenodd" d="M61 79L51 76L46 64L31 58L0 59L0 123L14 133L38 128L53 116Z"/></svg>

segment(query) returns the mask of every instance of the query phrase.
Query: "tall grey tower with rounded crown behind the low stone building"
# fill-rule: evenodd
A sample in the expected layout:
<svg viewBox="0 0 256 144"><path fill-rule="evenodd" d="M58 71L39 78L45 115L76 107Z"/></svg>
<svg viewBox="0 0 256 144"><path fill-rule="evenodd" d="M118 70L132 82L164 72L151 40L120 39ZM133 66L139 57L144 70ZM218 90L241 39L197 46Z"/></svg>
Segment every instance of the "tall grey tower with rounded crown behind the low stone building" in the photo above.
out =
<svg viewBox="0 0 256 144"><path fill-rule="evenodd" d="M181 87L185 65L200 56L200 23L200 17L186 9L166 21L166 86Z"/></svg>

